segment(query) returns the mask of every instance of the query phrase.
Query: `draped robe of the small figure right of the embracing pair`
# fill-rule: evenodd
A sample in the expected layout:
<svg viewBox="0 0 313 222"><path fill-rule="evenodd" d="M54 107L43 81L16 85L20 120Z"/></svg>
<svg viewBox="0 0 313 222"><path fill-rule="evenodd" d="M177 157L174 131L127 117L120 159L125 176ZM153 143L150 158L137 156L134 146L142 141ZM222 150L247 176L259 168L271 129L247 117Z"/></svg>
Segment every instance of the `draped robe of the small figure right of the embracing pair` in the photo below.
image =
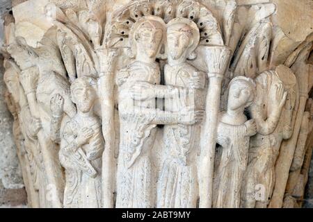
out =
<svg viewBox="0 0 313 222"><path fill-rule="evenodd" d="M246 126L218 124L218 161L214 170L213 206L216 208L239 208L240 191L248 165L250 137Z"/></svg>

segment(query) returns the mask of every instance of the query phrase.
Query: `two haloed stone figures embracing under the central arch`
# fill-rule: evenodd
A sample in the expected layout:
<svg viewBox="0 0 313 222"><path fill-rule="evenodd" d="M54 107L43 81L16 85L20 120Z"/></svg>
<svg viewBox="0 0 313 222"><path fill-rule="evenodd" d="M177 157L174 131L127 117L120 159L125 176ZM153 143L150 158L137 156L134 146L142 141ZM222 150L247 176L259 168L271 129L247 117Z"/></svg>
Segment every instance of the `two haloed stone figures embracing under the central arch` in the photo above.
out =
<svg viewBox="0 0 313 222"><path fill-rule="evenodd" d="M138 19L129 34L134 60L117 75L120 153L116 207L196 207L200 121L206 78L186 60L200 41L189 19ZM165 48L165 50L163 50ZM165 51L164 84L157 58ZM162 105L157 99L163 99ZM154 181L152 147L164 125L163 158ZM157 182L157 185L156 185Z"/></svg>

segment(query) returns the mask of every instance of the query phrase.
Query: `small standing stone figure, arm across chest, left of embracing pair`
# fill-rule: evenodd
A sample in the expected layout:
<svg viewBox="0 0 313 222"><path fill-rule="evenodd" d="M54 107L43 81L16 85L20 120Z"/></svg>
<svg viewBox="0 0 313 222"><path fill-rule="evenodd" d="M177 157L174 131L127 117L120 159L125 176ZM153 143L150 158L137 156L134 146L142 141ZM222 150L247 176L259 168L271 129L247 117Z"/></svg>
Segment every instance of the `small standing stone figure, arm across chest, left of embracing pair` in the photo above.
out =
<svg viewBox="0 0 313 222"><path fill-rule="evenodd" d="M101 123L93 113L95 89L88 78L77 78L71 85L77 114L62 130L60 162L65 168L64 207L102 207L102 153L104 139ZM63 101L63 98L59 98ZM60 110L63 108L60 103Z"/></svg>

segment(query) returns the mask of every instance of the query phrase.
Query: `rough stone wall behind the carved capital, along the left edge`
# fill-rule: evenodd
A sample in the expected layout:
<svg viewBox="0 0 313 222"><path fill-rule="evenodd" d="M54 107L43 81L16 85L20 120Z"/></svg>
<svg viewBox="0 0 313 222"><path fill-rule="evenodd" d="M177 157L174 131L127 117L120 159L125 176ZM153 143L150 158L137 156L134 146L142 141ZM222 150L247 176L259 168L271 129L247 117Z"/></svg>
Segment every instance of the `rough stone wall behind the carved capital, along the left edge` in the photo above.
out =
<svg viewBox="0 0 313 222"><path fill-rule="evenodd" d="M11 10L11 1L0 1L0 44L4 40L3 16ZM1 48L1 46L0 46ZM0 56L0 207L26 205L26 192L13 137L13 117L6 108L3 82L3 57Z"/></svg>

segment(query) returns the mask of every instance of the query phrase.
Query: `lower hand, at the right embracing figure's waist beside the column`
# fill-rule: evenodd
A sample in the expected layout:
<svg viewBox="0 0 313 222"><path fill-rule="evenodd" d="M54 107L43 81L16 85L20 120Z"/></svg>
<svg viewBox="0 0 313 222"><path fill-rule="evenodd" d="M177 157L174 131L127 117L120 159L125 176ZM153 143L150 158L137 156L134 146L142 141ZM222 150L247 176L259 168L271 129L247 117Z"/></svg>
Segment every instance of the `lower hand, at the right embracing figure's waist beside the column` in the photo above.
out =
<svg viewBox="0 0 313 222"><path fill-rule="evenodd" d="M202 121L204 117L204 110L194 110L193 108L183 108L179 111L178 123L184 125L193 125Z"/></svg>

